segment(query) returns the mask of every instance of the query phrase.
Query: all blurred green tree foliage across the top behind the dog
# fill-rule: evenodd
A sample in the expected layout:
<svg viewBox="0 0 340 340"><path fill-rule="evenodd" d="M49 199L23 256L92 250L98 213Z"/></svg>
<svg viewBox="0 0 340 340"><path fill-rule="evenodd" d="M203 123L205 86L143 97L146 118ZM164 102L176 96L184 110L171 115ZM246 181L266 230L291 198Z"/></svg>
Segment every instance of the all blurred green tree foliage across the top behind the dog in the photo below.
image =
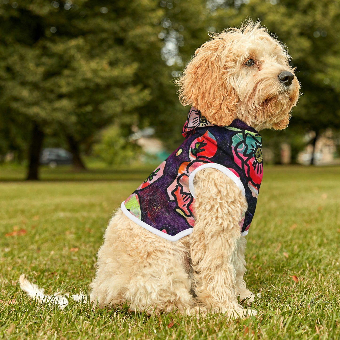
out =
<svg viewBox="0 0 340 340"><path fill-rule="evenodd" d="M11 0L0 2L0 153L23 154L34 123L87 149L114 122L124 136L152 125L172 150L187 112L173 80L207 31L249 18L293 56L294 133L339 129L339 0Z"/></svg>

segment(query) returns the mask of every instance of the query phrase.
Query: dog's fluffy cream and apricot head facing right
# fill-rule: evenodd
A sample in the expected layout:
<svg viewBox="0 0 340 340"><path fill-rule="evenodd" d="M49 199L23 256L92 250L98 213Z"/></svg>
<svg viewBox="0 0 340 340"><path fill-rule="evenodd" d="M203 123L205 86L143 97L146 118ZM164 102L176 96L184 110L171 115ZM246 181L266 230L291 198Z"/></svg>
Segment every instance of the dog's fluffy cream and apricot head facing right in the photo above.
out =
<svg viewBox="0 0 340 340"><path fill-rule="evenodd" d="M177 81L183 105L192 105L216 125L235 118L257 130L285 129L300 84L285 47L248 22L203 44Z"/></svg>

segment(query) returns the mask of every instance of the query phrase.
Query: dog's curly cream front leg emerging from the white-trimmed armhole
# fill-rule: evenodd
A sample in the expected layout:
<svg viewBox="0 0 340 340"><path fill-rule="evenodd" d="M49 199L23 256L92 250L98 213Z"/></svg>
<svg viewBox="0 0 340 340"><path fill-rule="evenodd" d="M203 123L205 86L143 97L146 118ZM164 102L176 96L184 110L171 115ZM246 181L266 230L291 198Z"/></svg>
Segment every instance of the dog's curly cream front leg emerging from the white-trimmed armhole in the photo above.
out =
<svg viewBox="0 0 340 340"><path fill-rule="evenodd" d="M237 302L235 256L246 200L236 184L216 169L199 171L194 186L196 222L190 256L197 299L213 312L254 315L256 311L244 310Z"/></svg>

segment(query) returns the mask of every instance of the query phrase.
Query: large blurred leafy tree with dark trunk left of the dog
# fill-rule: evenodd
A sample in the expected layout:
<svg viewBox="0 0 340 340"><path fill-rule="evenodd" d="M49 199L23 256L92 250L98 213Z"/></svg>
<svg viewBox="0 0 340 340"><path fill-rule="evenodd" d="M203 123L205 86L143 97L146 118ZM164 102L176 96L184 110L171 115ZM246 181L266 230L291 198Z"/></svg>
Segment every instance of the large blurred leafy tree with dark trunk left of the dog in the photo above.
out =
<svg viewBox="0 0 340 340"><path fill-rule="evenodd" d="M150 100L135 79L140 65L131 42L159 51L153 21L161 17L152 0L0 5L0 101L8 115L29 121L27 179L38 178L46 131L61 129L79 155L80 143L112 120L131 124L134 109Z"/></svg>

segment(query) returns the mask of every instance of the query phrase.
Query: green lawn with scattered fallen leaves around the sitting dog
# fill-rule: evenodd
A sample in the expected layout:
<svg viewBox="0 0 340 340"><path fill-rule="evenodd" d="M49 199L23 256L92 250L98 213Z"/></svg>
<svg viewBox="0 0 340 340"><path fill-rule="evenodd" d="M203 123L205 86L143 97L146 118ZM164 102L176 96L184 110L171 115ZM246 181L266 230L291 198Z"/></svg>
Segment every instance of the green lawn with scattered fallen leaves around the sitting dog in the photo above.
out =
<svg viewBox="0 0 340 340"><path fill-rule="evenodd" d="M86 291L112 211L150 170L46 169L50 181L0 183L0 338L340 339L340 167L265 169L247 236L246 282L262 293L251 319L157 318L74 301L58 310L20 292L21 273L47 293ZM19 179L0 169L9 177Z"/></svg>

